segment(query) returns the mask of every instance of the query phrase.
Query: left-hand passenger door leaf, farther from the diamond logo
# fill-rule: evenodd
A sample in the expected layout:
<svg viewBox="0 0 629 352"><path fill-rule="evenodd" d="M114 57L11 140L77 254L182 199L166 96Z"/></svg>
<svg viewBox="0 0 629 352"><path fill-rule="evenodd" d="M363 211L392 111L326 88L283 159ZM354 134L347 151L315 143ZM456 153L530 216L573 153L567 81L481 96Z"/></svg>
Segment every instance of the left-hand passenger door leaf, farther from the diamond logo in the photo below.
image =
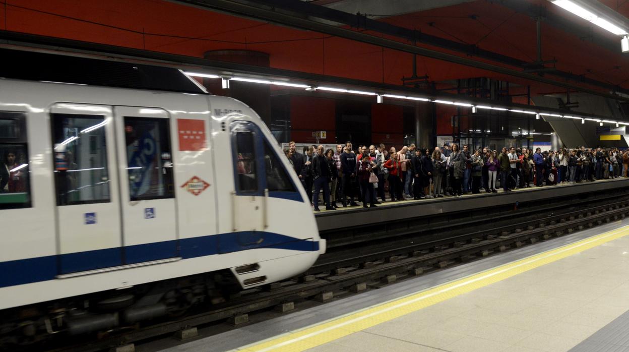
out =
<svg viewBox="0 0 629 352"><path fill-rule="evenodd" d="M122 264L120 198L110 106L50 109L60 273Z"/></svg>

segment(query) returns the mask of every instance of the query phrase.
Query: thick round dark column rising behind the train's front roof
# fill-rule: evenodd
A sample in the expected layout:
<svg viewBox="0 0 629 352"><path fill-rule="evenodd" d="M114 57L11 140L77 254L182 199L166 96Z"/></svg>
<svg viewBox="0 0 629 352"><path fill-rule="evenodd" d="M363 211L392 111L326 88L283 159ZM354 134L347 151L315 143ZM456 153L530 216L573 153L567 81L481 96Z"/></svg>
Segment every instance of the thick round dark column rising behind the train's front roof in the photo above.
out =
<svg viewBox="0 0 629 352"><path fill-rule="evenodd" d="M269 67L269 54L252 50L211 50L203 54L205 59L237 62L238 64ZM262 120L270 123L271 90L268 84L230 81L230 88L223 89L218 79L204 79L203 85L212 94L229 96L250 106Z"/></svg>

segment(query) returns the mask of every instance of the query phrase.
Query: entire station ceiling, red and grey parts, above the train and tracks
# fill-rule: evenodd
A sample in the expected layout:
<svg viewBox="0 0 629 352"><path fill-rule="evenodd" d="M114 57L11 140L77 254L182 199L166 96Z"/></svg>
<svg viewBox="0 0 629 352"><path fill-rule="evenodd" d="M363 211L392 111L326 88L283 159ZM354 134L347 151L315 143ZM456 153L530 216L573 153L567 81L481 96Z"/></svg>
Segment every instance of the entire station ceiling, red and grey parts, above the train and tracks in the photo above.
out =
<svg viewBox="0 0 629 352"><path fill-rule="evenodd" d="M408 52L286 24L254 20L243 13L211 9L211 5L218 2L7 1L0 6L0 18L4 19L0 21L0 27L8 31L194 57L203 57L211 50L255 50L269 54L271 67L387 84L401 84L402 77L411 76L413 55ZM269 3L232 2L254 6ZM628 1L600 2L623 16L629 16ZM360 13L355 25L331 23L322 18L313 20L377 38L410 43L408 38L364 28L359 18L388 23L457 43L463 50L453 49L456 45L448 48L421 40L416 43L417 47L518 72L528 70L528 74L538 77L543 74L543 78L557 82L539 82L418 55L418 75L427 75L429 81L442 82L442 86L457 79L489 77L513 83L513 94L522 93L526 86L530 86L532 94L561 93L566 91L566 83L576 87L571 91L582 88L601 94L610 91L629 93L629 62L621 54L620 37L581 20L547 0L282 0L273 3L287 6L308 4L350 14ZM281 7L276 7L277 11ZM308 13L291 11L288 12L293 16L312 18ZM538 66L521 65L537 60L537 16L542 18L542 60L555 61L546 64L542 73L530 72ZM490 54L480 57L474 54L475 50ZM506 62L504 57L513 60ZM557 74L559 71L563 76ZM567 76L572 79L567 79Z"/></svg>

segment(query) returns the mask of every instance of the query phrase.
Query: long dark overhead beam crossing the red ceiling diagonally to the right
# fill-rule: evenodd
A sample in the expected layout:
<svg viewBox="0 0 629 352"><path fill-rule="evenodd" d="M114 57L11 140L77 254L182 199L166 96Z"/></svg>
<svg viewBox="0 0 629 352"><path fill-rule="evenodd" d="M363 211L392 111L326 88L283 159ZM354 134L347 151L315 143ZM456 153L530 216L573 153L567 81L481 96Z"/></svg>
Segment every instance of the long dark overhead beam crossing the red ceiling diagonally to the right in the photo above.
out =
<svg viewBox="0 0 629 352"><path fill-rule="evenodd" d="M530 81L542 82L545 84L550 84L552 86L575 89L583 93L589 93L589 94L593 94L597 96L604 96L605 98L629 102L628 98L623 98L615 94L604 93L596 89L584 88L582 86L577 86L576 84L571 84L564 81L555 81L554 79L548 79L545 77L537 76L535 74L528 74L525 72L508 69L506 67L502 67L498 65L487 64L486 62L479 62L476 60L467 59L465 57L460 57L457 55L451 55L451 54L446 54L443 52L437 52L435 50L430 50L427 48L416 47L415 45L398 42L396 40L389 40L386 38L375 37L373 35L365 34L360 31L355 31L355 30L350 30L346 28L340 28L338 26L327 25L325 23L320 23L318 21L310 20L309 18L300 18L298 16L295 16L292 13L286 13L285 11L282 11L282 12L277 11L275 6L270 6L268 4L257 4L255 2L240 3L239 1L235 1L235 0L172 0L172 1L174 1L175 3L189 4L197 8L210 9L212 11L223 11L225 13L237 14L238 16L243 16L247 18L255 18L257 20L270 21L272 23L278 23L282 25L289 25L294 28L317 31L319 33L326 33L328 35L334 35L336 37L354 40L356 42L362 42L362 43L367 43L371 45L376 45L379 47L390 48L393 50L408 52L410 54L422 55L425 57L431 57L433 59L443 60L446 62L452 62L454 64L466 65L469 67L476 67L477 69L497 72L497 73L505 74L508 76L520 77L522 79L528 79ZM271 2L274 2L274 1L272 0L267 1L267 3L271 3ZM281 3L284 3L284 1L281 1ZM301 2L298 1L298 3L301 3ZM302 4L306 4L306 3L302 3ZM333 11L330 9L327 9L327 10ZM369 20L365 20L365 22L369 22ZM423 37L423 34L420 37ZM581 82L584 82L586 84L599 85L600 83L600 82L593 82L592 80L586 79L585 77L582 77L582 76L577 76L577 77L579 77ZM606 84L606 86L607 86L606 89L608 90L625 91L625 89L619 89L617 86L613 86L610 84Z"/></svg>

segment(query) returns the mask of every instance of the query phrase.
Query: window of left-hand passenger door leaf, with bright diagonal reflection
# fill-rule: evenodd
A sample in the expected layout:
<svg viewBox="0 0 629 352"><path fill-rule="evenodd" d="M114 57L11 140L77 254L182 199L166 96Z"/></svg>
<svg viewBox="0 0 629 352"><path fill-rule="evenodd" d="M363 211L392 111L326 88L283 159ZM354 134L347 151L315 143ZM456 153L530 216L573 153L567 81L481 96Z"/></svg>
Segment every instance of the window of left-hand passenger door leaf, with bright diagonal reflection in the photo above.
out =
<svg viewBox="0 0 629 352"><path fill-rule="evenodd" d="M57 205L109 202L104 116L50 115Z"/></svg>

